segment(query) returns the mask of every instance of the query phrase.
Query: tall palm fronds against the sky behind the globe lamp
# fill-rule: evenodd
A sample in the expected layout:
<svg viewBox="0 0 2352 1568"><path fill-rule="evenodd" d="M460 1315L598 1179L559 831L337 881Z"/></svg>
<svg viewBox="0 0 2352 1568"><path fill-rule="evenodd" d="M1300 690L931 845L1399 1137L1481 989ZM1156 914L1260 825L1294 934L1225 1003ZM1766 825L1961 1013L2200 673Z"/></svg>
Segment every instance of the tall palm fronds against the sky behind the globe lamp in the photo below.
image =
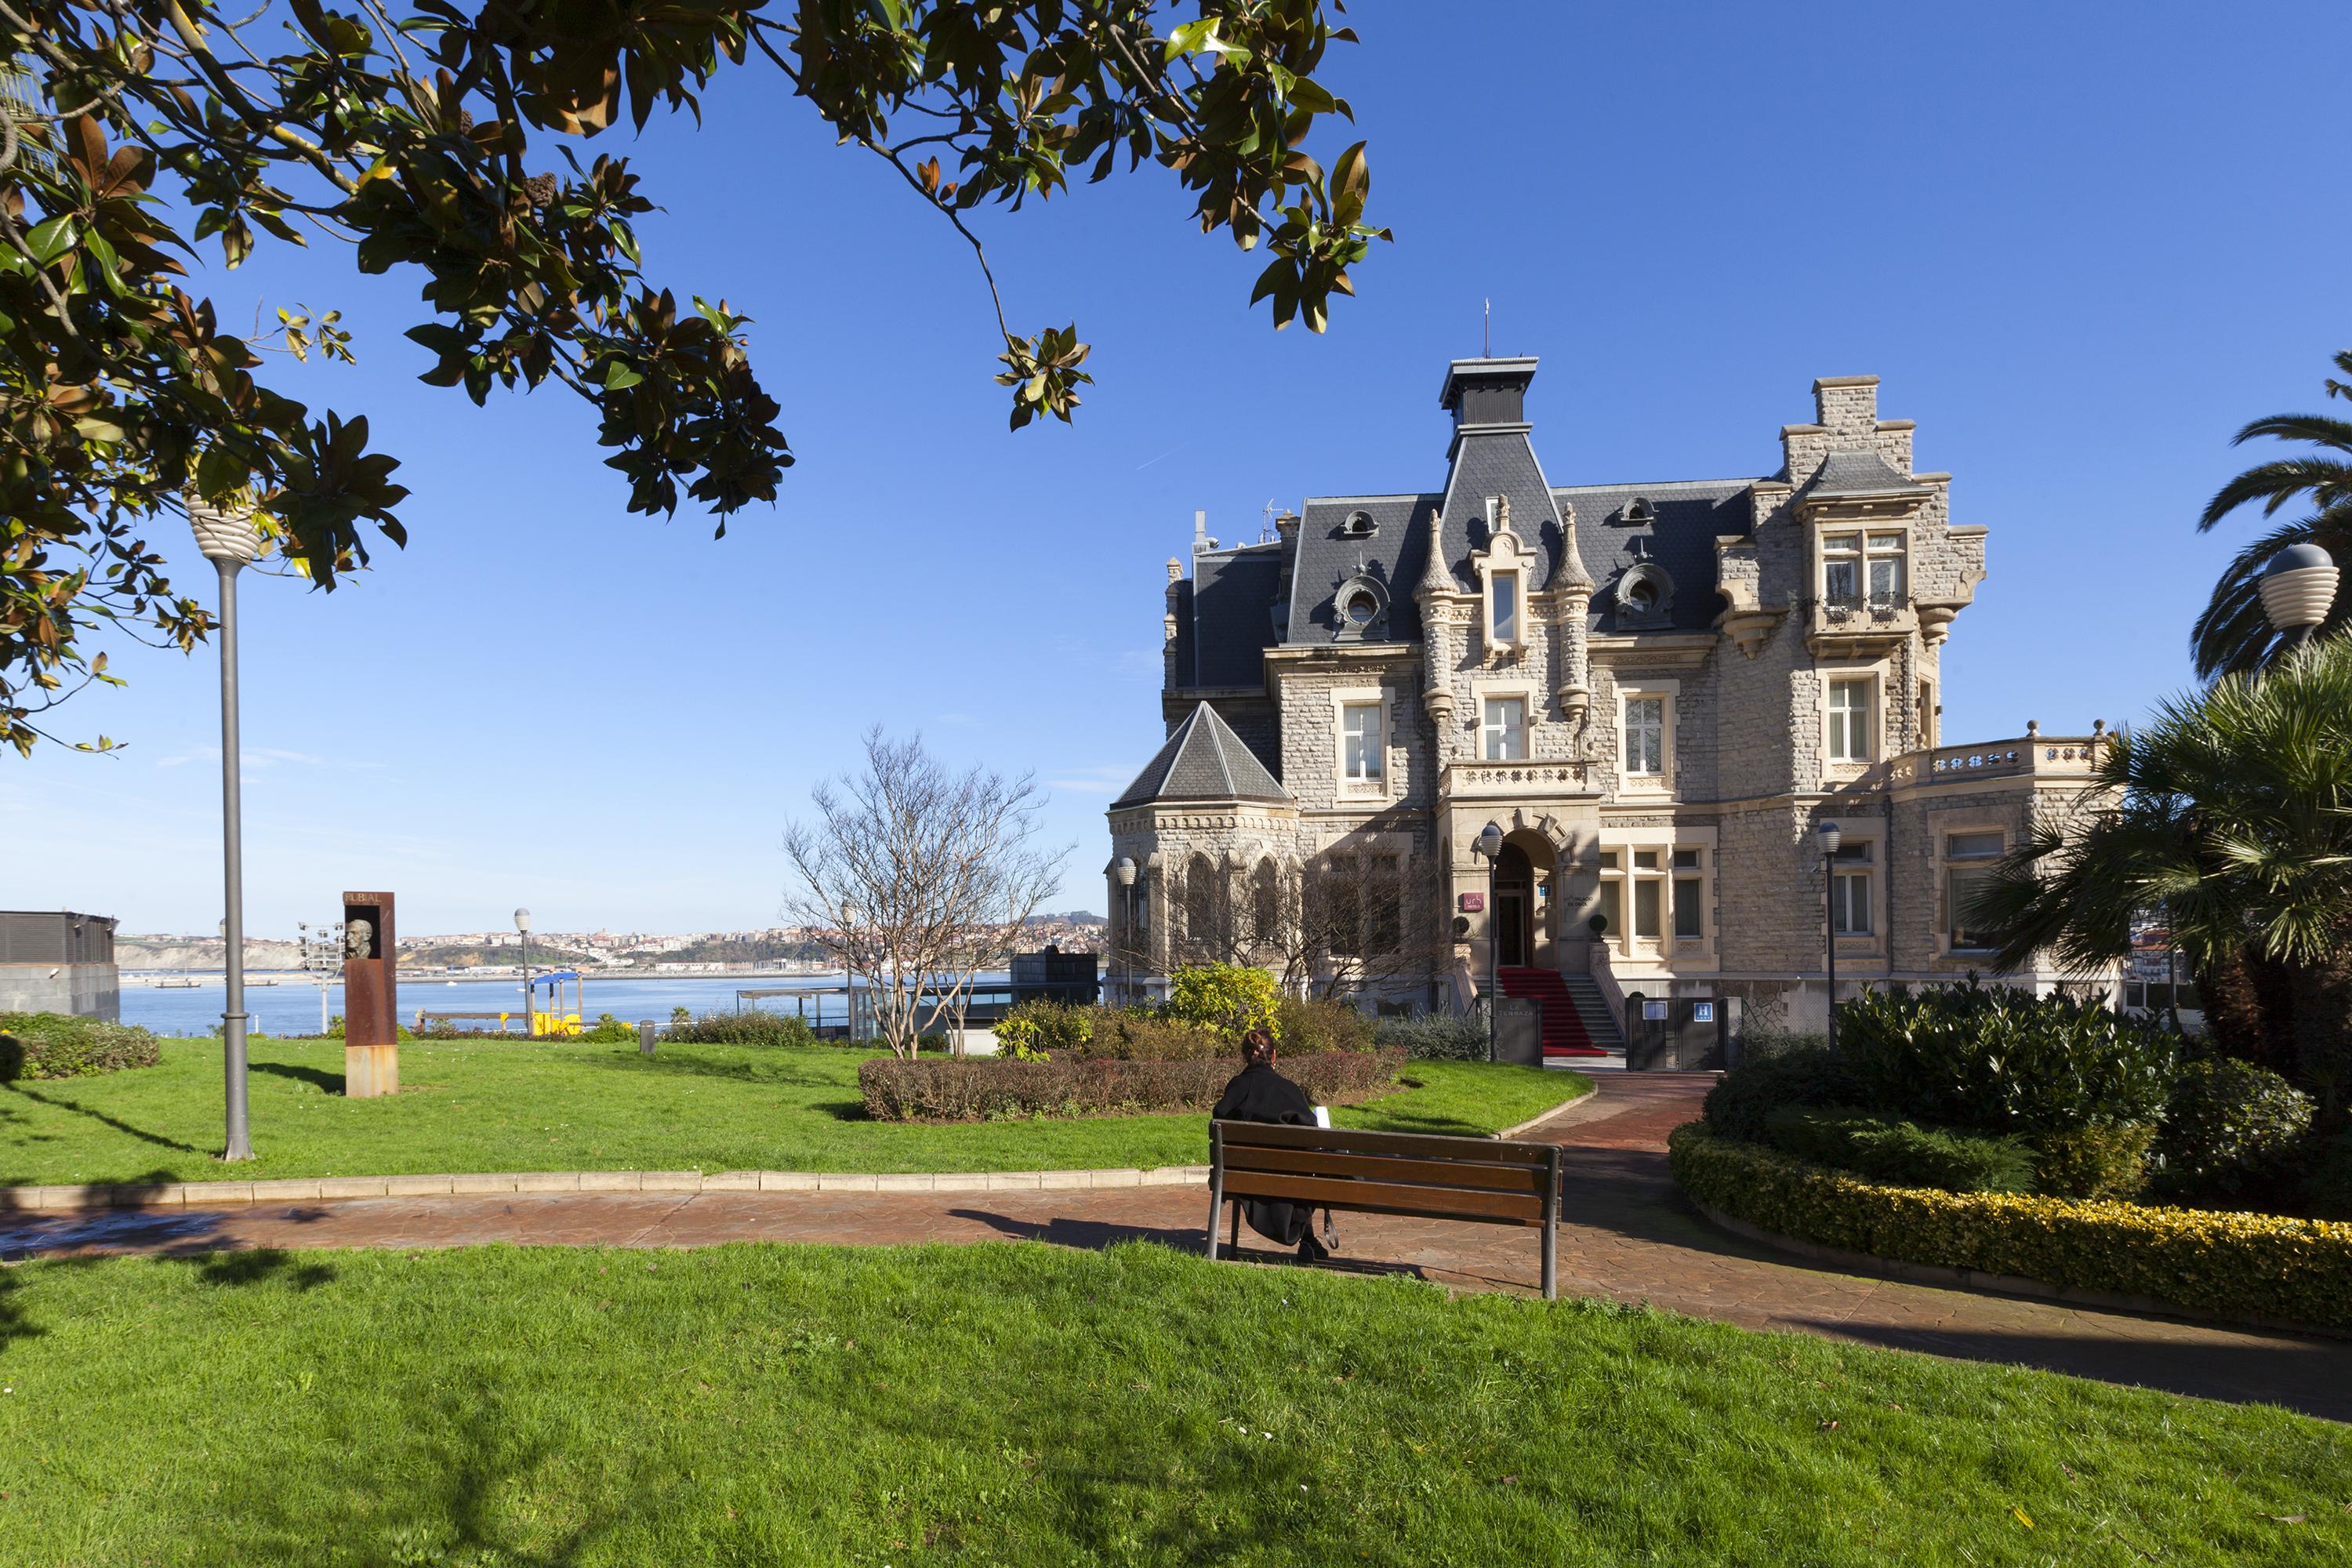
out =
<svg viewBox="0 0 2352 1568"><path fill-rule="evenodd" d="M2352 376L2352 350L2336 355L2336 369ZM2352 400L2352 383L2328 376L2328 397ZM2317 451L2256 463L2216 491L2206 503L2197 531L2209 531L2216 522L2253 501L2263 503L2263 517L2274 517L2288 501L2307 496L2317 508L2303 522L2288 522L2253 541L2213 585L2213 599L2197 616L2190 632L2190 649L2197 656L2197 675L2260 670L2279 651L2279 635L2263 618L2263 602L2256 595L2256 578L2286 545L2314 543L2340 562L2352 564L2352 421L2326 414L2272 414L2258 418L2232 437L2232 447L2272 435L2281 442L2310 442ZM2352 597L2352 595L2347 595ZM2321 632L2340 630L2352 618L2352 604L2338 604Z"/></svg>

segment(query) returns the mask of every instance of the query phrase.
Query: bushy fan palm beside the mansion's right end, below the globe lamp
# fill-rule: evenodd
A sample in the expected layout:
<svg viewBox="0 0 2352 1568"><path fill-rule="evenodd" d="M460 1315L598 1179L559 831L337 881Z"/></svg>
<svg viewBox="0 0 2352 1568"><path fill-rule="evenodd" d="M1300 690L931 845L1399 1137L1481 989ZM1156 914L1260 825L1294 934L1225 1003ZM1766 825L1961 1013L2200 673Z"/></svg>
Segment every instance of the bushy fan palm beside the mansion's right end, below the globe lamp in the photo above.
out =
<svg viewBox="0 0 2352 1568"><path fill-rule="evenodd" d="M2225 675L2105 750L2079 816L2034 827L1971 910L1999 969L2093 971L2161 912L2232 1056L2352 1112L2352 637Z"/></svg>

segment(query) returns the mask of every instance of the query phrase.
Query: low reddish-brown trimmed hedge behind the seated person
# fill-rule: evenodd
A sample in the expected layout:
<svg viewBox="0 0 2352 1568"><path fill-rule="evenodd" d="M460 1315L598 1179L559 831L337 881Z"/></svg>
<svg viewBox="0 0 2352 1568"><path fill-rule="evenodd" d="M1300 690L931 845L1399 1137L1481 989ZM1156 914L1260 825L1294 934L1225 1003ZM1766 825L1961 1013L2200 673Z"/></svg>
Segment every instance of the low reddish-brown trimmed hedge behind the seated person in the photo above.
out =
<svg viewBox="0 0 2352 1568"><path fill-rule="evenodd" d="M1388 1091L1402 1051L1324 1051L1282 1058L1282 1077L1317 1105L1355 1105ZM858 1065L858 1093L875 1121L997 1121L1209 1110L1242 1070L1237 1056L1195 1060L913 1060Z"/></svg>

